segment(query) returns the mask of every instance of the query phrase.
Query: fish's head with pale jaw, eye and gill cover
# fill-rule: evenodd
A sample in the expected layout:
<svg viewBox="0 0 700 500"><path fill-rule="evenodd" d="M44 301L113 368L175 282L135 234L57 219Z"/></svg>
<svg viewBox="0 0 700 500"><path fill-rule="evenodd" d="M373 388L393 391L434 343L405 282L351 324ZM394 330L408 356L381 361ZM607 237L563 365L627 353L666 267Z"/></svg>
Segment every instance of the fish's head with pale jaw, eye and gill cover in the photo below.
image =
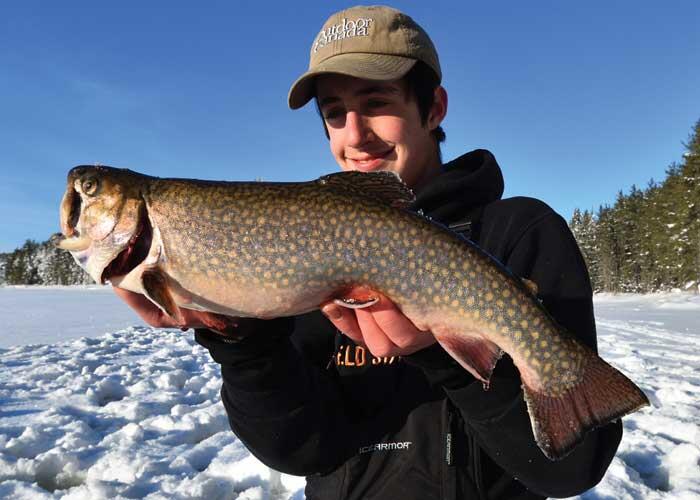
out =
<svg viewBox="0 0 700 500"><path fill-rule="evenodd" d="M68 172L61 201L61 233L54 245L68 250L97 282L124 275L148 254L150 223L143 192L150 177L105 166Z"/></svg>

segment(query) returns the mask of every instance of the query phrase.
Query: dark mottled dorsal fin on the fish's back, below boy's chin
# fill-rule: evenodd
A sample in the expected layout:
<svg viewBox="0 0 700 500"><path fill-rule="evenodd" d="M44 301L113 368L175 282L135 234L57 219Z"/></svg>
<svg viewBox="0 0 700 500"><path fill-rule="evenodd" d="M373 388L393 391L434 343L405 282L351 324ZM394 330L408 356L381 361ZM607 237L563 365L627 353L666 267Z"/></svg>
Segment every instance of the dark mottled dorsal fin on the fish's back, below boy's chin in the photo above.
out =
<svg viewBox="0 0 700 500"><path fill-rule="evenodd" d="M407 208L416 198L394 172L337 172L324 175L316 182L344 193L380 199L396 208Z"/></svg>

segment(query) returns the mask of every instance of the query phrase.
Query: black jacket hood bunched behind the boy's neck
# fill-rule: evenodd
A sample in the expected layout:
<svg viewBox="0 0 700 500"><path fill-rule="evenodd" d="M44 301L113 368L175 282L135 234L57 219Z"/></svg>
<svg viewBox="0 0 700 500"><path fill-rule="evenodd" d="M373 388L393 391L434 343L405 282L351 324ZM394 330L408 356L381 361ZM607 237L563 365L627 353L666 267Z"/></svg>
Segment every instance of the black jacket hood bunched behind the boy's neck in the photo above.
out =
<svg viewBox="0 0 700 500"><path fill-rule="evenodd" d="M501 199L503 174L490 151L475 149L442 166L442 172L416 195L413 210L444 223Z"/></svg>

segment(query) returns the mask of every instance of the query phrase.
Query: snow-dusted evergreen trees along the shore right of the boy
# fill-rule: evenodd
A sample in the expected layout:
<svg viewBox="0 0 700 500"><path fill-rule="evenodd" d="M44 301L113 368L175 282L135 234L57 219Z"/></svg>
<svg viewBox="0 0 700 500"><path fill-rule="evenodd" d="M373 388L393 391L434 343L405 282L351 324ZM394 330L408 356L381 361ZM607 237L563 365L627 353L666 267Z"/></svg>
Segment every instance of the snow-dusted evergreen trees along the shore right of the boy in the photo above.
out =
<svg viewBox="0 0 700 500"><path fill-rule="evenodd" d="M574 210L569 223L594 290L654 292L700 287L700 120L681 163L661 183L620 191L597 213Z"/></svg>

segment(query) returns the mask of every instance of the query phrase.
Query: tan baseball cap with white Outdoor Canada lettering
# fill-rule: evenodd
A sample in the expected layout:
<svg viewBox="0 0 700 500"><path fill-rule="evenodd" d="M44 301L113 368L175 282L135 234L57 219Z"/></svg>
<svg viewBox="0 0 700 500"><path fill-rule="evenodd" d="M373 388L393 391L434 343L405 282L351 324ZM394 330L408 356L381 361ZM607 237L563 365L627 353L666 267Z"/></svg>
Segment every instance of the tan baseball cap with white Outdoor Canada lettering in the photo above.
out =
<svg viewBox="0 0 700 500"><path fill-rule="evenodd" d="M358 6L328 18L311 45L309 69L289 90L289 107L301 108L315 95L318 75L339 73L367 80L396 80L416 61L442 80L437 51L413 19L384 6Z"/></svg>

